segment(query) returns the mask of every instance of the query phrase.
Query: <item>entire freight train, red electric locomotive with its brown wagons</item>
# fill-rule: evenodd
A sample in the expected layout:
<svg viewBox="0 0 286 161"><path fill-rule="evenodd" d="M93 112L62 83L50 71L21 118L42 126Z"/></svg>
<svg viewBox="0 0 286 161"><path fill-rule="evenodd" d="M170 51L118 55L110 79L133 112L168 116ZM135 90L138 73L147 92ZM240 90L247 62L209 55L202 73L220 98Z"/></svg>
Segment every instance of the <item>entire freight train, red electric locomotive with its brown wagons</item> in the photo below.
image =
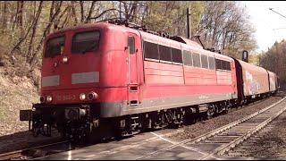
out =
<svg viewBox="0 0 286 161"><path fill-rule="evenodd" d="M279 89L275 73L130 23L97 22L45 39L35 136L122 137L227 113ZM107 133L107 134L106 134Z"/></svg>

